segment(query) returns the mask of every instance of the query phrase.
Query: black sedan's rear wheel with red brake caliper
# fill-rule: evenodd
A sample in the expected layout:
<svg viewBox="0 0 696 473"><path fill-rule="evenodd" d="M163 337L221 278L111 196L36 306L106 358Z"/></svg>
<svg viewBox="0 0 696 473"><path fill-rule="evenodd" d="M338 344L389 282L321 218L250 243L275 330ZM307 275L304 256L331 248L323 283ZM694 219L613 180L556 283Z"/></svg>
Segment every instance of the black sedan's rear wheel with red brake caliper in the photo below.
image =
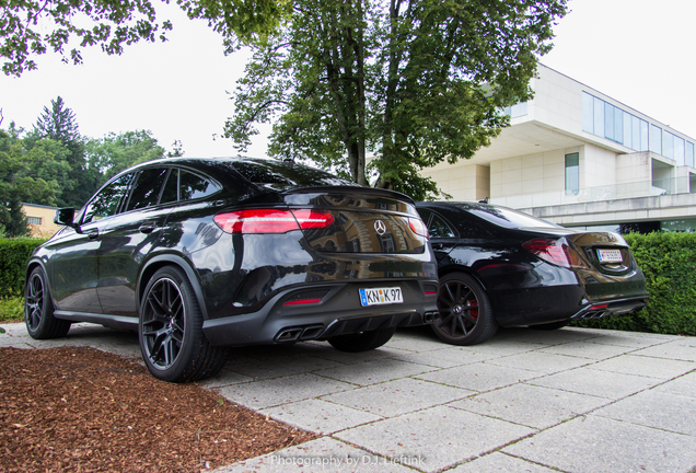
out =
<svg viewBox="0 0 696 473"><path fill-rule="evenodd" d="M464 273L440 278L438 310L440 319L432 323L432 331L451 345L476 345L498 332L486 291Z"/></svg>

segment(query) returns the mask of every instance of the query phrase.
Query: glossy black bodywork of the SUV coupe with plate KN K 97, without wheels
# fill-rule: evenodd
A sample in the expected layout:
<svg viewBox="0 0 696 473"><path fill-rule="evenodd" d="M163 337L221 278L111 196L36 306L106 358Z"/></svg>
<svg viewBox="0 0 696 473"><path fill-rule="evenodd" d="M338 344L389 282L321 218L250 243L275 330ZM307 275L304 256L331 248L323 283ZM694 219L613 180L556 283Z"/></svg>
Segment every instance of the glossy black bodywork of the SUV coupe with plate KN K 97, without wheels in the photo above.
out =
<svg viewBox="0 0 696 473"><path fill-rule="evenodd" d="M156 184L141 185L144 176ZM213 220L256 208L321 208L334 222L230 234ZM303 339L325 339L422 324L437 314L437 264L427 238L409 228L409 218L419 219L413 200L309 168L242 159L149 162L115 176L71 217L71 209L57 212L66 227L27 265L27 274L44 268L57 319L135 330L148 282L167 265L186 274L214 345L292 342L278 336L297 326ZM404 303L361 307L358 289L385 286L402 287ZM318 290L321 300L286 303L308 290Z"/></svg>

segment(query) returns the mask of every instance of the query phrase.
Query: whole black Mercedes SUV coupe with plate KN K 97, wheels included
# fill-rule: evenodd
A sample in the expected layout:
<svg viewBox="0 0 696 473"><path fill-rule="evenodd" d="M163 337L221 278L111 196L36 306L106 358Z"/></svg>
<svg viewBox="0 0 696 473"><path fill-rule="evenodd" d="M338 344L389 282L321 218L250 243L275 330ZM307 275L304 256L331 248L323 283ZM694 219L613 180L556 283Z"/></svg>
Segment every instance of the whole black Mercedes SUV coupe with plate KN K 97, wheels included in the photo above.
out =
<svg viewBox="0 0 696 473"><path fill-rule="evenodd" d="M415 203L292 162L148 162L56 222L26 268L30 335L65 336L73 322L137 331L165 381L214 374L229 346L360 351L437 316Z"/></svg>

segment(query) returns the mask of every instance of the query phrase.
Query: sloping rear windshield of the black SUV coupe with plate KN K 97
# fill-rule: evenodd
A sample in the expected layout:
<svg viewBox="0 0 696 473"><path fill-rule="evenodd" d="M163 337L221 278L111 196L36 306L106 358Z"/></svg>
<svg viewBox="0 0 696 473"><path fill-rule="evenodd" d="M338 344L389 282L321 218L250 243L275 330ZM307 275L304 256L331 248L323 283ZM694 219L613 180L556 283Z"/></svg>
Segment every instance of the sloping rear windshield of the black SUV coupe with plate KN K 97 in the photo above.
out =
<svg viewBox="0 0 696 473"><path fill-rule="evenodd" d="M275 191L314 186L357 185L325 171L283 161L247 160L234 161L231 164L250 182Z"/></svg>

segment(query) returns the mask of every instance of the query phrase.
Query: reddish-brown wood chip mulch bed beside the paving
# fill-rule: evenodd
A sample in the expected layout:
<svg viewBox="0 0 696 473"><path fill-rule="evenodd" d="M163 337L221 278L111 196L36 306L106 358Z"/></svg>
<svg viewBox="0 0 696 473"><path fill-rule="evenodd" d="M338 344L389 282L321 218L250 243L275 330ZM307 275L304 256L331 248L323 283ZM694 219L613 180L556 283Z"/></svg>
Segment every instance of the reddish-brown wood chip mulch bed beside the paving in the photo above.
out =
<svg viewBox="0 0 696 473"><path fill-rule="evenodd" d="M198 472L317 436L92 348L0 348L0 471Z"/></svg>

